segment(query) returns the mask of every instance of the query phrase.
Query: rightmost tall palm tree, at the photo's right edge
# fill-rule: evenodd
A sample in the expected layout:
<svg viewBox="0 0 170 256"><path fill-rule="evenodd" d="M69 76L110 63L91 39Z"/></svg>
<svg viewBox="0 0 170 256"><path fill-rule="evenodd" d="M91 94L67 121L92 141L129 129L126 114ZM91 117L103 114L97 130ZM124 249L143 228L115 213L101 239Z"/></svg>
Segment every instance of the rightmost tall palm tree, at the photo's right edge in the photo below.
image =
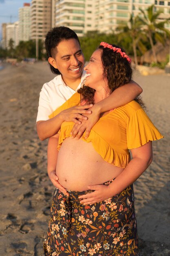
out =
<svg viewBox="0 0 170 256"><path fill-rule="evenodd" d="M164 37L165 35L170 35L170 32L168 29L164 27L164 25L169 22L169 19L165 19L164 21L158 22L157 19L162 13L162 11L156 11L154 12L154 4L152 4L148 9L146 10L146 13L144 10L140 9L141 13L143 14L143 17L141 18L139 16L139 21L144 26L144 32L146 33L146 36L149 38L150 45L152 48L152 53L154 57L155 63L157 63L157 56L154 49L154 43L152 36L155 36L155 40L160 41L161 43L164 43Z"/></svg>

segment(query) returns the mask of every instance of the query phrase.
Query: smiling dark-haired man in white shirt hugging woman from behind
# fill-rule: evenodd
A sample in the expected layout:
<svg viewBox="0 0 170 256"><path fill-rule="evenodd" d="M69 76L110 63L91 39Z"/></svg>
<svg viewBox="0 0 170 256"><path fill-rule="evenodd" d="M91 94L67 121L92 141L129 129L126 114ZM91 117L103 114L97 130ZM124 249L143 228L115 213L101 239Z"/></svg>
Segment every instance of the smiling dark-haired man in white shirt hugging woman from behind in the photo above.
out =
<svg viewBox="0 0 170 256"><path fill-rule="evenodd" d="M49 31L46 35L45 46L51 71L57 76L49 83L45 83L40 92L37 132L41 140L55 135L64 121L75 122L72 130L73 137L79 138L84 130L88 137L100 113L123 106L142 92L140 86L131 81L93 106L73 106L49 119L49 115L80 88L85 79L83 70L85 60L77 35L68 27L55 27ZM89 108L90 110L87 110ZM57 149L53 154L57 154ZM54 170L48 170L48 173L50 173L49 177L53 185L63 193L67 193L57 181L55 167Z"/></svg>

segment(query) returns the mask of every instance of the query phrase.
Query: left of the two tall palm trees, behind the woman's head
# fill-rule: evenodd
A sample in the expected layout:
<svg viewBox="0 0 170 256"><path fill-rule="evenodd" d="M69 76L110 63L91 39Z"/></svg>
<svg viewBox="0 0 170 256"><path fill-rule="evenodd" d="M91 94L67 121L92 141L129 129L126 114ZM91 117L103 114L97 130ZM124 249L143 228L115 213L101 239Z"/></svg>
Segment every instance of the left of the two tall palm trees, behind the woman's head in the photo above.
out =
<svg viewBox="0 0 170 256"><path fill-rule="evenodd" d="M123 29L123 31L118 36L119 42L122 39L131 38L135 65L137 66L137 47L142 53L146 51L146 47L143 44L143 41L146 40L146 35L141 31L141 22L137 16L134 17L131 14L130 20L126 27L119 27L119 29Z"/></svg>

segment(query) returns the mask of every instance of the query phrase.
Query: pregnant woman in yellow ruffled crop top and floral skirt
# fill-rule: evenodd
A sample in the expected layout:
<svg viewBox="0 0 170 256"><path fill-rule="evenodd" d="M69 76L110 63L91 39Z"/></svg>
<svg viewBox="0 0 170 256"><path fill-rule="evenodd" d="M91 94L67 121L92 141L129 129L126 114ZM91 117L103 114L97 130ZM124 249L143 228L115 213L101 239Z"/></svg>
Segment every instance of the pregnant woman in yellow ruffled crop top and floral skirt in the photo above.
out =
<svg viewBox="0 0 170 256"><path fill-rule="evenodd" d="M132 79L130 58L104 42L85 69L83 87L51 117L97 103ZM152 141L163 137L142 104L136 99L102 113L88 138L85 132L80 139L71 136L73 122L63 122L50 138L48 173L57 161L56 175L66 193L54 191L44 255L139 255L132 184L152 162Z"/></svg>

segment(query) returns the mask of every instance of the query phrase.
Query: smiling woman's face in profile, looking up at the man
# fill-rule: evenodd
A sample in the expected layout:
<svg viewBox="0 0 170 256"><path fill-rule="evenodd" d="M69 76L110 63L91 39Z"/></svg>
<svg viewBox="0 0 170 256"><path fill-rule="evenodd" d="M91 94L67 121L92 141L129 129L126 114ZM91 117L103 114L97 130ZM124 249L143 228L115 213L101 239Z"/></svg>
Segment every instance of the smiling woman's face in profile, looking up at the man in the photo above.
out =
<svg viewBox="0 0 170 256"><path fill-rule="evenodd" d="M102 49L97 49L93 52L90 62L84 70L86 70L86 81L85 85L89 86L96 91L99 91L100 88L104 88L107 85L107 79L104 78L103 72L103 64L101 59Z"/></svg>

